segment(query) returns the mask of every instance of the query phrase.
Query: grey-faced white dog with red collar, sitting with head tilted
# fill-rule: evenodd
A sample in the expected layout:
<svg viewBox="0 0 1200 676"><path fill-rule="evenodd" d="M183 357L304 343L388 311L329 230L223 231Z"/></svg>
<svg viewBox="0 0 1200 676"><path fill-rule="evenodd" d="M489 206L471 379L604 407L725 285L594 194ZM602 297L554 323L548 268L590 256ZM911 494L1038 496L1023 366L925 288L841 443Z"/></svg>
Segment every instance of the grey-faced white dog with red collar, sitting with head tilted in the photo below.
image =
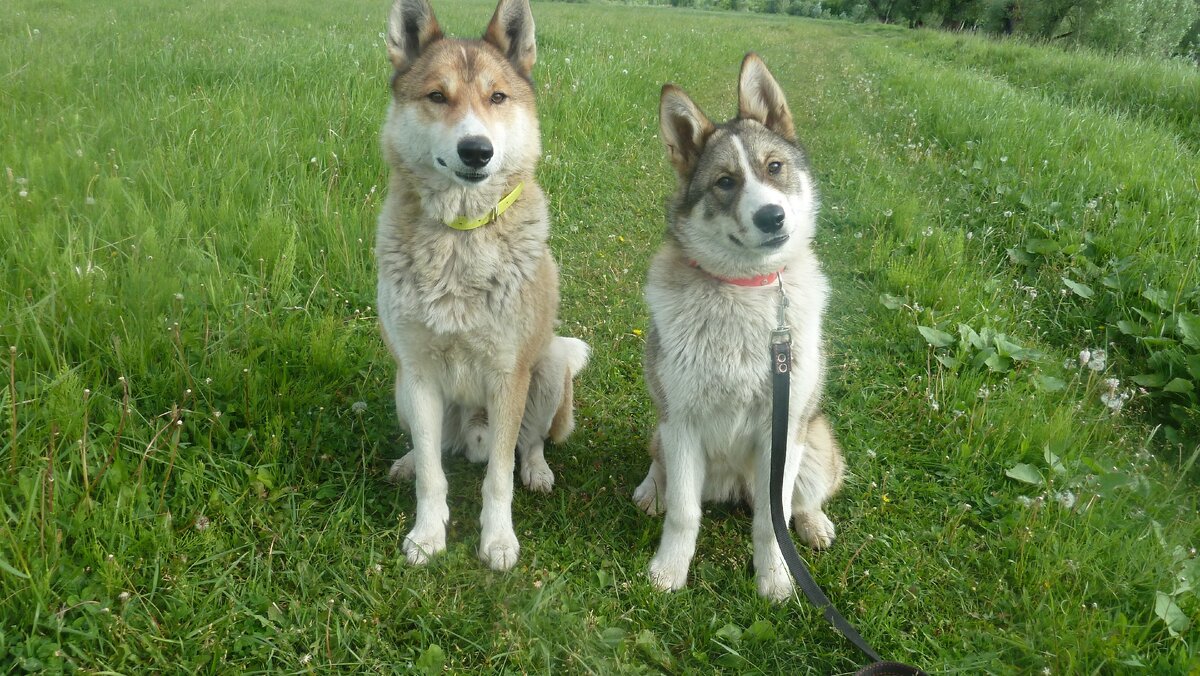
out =
<svg viewBox="0 0 1200 676"><path fill-rule="evenodd" d="M713 125L668 84L660 125L679 183L646 287L646 381L659 424L650 471L634 499L650 514L666 513L650 580L661 590L686 584L702 501L745 499L754 508L758 592L781 600L792 579L768 496L769 342L780 297L775 283L730 280L781 271L793 355L784 504L808 544L828 546L834 526L822 507L841 485L844 463L818 408L829 286L811 247L816 185L784 92L754 54L742 64L736 119Z"/></svg>

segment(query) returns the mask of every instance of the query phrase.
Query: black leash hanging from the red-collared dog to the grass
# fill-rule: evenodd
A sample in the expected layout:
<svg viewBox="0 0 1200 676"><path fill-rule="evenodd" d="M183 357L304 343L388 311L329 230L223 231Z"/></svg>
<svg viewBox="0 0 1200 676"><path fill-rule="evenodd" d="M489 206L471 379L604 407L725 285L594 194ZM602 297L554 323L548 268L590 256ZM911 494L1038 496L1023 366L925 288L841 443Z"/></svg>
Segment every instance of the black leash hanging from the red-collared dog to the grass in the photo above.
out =
<svg viewBox="0 0 1200 676"><path fill-rule="evenodd" d="M833 602L817 586L812 574L809 573L804 560L796 551L792 536L787 531L787 521L784 519L784 462L787 456L787 417L791 400L791 372L792 372L792 333L787 327L787 297L784 294L784 280L779 280L779 325L770 334L770 525L775 531L775 542L784 555L792 578L804 592L804 596L812 605L821 609L827 622L834 629L854 644L854 647L863 651L863 654L871 658L872 664L858 671L859 676L910 676L925 672L916 666L900 662L886 662L870 644L859 635L858 629L851 624L833 606Z"/></svg>

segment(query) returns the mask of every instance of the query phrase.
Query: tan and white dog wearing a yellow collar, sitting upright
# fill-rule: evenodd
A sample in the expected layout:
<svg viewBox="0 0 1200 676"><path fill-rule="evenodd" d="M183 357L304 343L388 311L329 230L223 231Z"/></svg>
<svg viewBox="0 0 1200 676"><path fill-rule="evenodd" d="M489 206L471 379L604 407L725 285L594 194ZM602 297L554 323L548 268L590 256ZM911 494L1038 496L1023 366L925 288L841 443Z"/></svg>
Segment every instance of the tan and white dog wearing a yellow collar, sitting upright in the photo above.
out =
<svg viewBox="0 0 1200 676"><path fill-rule="evenodd" d="M500 0L482 40L443 37L426 0L396 0L388 19L395 67L383 127L391 168L379 215L379 319L398 366L396 412L413 450L392 478L415 478L404 554L445 549L442 454L487 462L479 557L517 561L515 451L521 478L550 491L542 443L575 426L571 377L588 347L553 334L558 268L546 244L536 58L528 0Z"/></svg>

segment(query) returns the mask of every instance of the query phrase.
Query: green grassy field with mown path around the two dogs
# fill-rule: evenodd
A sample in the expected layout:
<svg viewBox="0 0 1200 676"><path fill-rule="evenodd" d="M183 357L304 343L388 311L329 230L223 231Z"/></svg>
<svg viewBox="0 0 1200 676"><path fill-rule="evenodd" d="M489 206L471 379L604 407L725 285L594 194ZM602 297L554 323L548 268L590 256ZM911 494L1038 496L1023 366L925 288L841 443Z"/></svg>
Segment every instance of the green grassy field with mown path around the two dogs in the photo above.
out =
<svg viewBox="0 0 1200 676"><path fill-rule="evenodd" d="M480 32L492 5L437 5ZM378 337L385 2L10 2L0 18L0 670L830 674L859 656L706 515L644 569L658 94L790 96L824 195L850 477L814 574L930 671L1195 672L1200 74L887 26L538 4L580 427L475 557L414 499ZM12 346L10 349L7 346ZM1081 352L1086 351L1086 363ZM1164 424L1165 423L1165 424Z"/></svg>

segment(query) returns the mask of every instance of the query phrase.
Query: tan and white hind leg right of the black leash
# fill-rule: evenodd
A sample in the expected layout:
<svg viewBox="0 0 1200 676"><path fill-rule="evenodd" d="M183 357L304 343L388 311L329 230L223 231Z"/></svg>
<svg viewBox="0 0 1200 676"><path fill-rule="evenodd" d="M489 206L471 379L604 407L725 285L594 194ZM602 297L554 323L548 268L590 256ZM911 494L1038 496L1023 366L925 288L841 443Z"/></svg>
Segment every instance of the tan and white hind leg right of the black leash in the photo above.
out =
<svg viewBox="0 0 1200 676"><path fill-rule="evenodd" d="M824 503L841 487L845 462L823 414L809 421L804 445L804 459L792 493L792 525L805 544L824 549L836 537L836 528L824 513Z"/></svg>

